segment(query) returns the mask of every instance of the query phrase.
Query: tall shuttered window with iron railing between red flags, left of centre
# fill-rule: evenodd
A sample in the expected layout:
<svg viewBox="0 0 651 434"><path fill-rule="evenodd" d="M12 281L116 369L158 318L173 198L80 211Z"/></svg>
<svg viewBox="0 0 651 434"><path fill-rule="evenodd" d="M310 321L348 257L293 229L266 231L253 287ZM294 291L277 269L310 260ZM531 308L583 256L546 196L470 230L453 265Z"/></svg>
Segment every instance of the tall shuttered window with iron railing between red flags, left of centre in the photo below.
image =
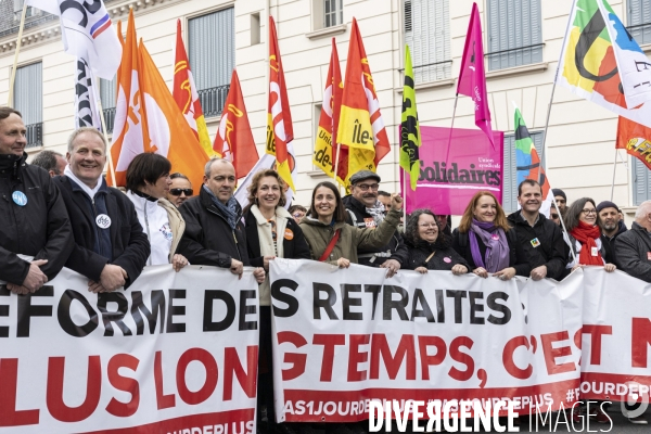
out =
<svg viewBox="0 0 651 434"><path fill-rule="evenodd" d="M188 58L205 117L224 108L235 66L233 8L190 20Z"/></svg>

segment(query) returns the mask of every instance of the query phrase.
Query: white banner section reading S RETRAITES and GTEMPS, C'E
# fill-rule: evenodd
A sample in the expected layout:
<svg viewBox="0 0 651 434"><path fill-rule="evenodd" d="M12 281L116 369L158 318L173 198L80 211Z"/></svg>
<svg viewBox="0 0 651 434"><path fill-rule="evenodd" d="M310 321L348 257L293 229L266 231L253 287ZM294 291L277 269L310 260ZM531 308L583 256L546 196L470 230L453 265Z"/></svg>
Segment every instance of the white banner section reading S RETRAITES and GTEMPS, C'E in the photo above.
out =
<svg viewBox="0 0 651 434"><path fill-rule="evenodd" d="M528 413L578 396L580 272L560 284L447 271L387 279L278 258L270 272L279 421L365 420L371 399L512 400Z"/></svg>

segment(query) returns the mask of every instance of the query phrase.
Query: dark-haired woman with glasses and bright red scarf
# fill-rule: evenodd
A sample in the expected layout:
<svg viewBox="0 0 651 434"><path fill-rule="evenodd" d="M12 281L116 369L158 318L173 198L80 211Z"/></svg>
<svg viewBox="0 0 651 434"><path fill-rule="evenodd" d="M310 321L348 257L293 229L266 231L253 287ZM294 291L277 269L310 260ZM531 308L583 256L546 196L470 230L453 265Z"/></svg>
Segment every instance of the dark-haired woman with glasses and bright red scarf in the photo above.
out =
<svg viewBox="0 0 651 434"><path fill-rule="evenodd" d="M565 237L565 242L576 255L574 260L570 253L567 269L574 271L584 265L595 265L611 272L617 268L605 255L597 217L597 206L590 197L577 199L565 212L565 229L570 235L569 239Z"/></svg>

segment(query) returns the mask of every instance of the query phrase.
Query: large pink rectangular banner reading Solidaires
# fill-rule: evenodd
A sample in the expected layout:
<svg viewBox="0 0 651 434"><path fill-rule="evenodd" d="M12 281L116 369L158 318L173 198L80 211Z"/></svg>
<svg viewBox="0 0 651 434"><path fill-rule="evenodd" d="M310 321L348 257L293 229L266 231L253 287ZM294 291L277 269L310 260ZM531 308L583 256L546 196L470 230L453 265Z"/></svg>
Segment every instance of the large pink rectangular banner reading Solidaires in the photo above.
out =
<svg viewBox="0 0 651 434"><path fill-rule="evenodd" d="M454 128L449 142L449 128L421 125L420 130L420 177L417 191L405 193L407 214L430 208L435 214L462 215L480 190L492 192L501 203L503 132L493 131L494 149L482 130Z"/></svg>

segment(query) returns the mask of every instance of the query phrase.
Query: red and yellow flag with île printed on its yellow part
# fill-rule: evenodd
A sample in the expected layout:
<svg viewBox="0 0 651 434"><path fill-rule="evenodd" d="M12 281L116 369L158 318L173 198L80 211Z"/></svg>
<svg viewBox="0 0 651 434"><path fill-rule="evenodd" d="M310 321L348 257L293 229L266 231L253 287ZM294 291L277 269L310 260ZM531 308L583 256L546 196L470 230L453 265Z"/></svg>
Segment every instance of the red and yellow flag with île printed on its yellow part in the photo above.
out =
<svg viewBox="0 0 651 434"><path fill-rule="evenodd" d="M391 151L371 68L355 18L336 141L348 146L348 178L361 169L375 171L380 161Z"/></svg>

